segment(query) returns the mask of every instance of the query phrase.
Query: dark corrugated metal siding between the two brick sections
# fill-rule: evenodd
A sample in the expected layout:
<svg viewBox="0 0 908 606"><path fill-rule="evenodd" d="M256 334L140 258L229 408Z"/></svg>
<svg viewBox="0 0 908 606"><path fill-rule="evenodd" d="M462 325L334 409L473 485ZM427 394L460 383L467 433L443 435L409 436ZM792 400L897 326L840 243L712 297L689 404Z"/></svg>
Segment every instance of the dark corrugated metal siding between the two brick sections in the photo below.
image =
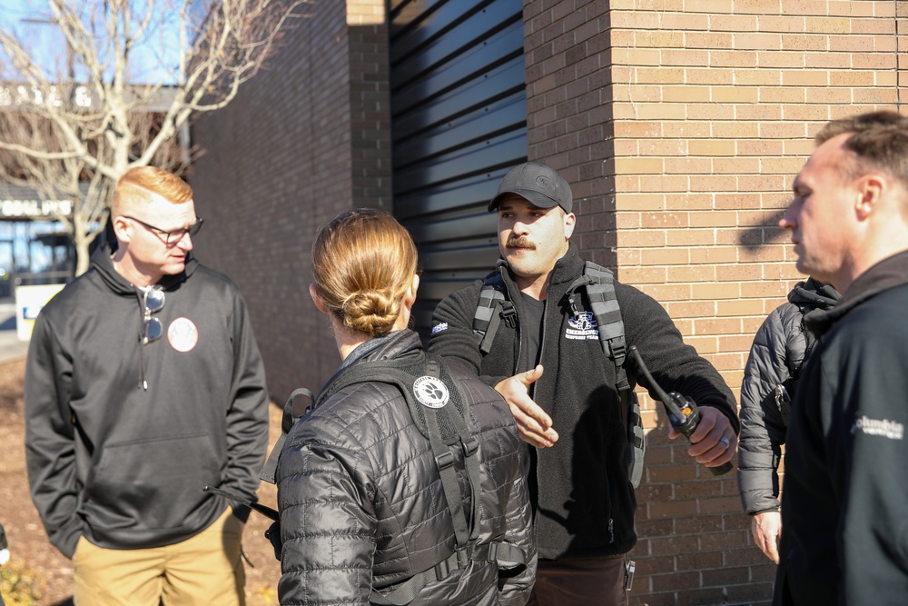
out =
<svg viewBox="0 0 908 606"><path fill-rule="evenodd" d="M435 305L498 259L487 212L527 159L522 0L391 0L394 214L419 246L414 310Z"/></svg>

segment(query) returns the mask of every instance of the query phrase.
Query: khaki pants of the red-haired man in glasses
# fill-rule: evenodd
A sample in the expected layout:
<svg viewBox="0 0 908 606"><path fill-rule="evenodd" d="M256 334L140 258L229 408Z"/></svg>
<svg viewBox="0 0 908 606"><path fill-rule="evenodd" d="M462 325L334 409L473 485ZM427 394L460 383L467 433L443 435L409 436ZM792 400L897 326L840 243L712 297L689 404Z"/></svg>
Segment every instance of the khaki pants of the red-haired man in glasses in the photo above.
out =
<svg viewBox="0 0 908 606"><path fill-rule="evenodd" d="M230 507L173 545L114 550L84 537L75 548L75 606L244 606L242 522Z"/></svg>

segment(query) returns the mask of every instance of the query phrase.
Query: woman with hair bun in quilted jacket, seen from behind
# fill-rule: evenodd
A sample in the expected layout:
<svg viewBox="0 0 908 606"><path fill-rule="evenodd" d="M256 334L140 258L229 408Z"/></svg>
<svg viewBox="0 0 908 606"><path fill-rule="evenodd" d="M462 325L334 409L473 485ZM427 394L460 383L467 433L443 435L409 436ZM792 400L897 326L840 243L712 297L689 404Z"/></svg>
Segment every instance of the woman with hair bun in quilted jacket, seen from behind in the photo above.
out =
<svg viewBox="0 0 908 606"><path fill-rule="evenodd" d="M309 292L341 368L277 468L281 604L524 604L526 459L497 392L422 350L410 234L353 210L321 229Z"/></svg>

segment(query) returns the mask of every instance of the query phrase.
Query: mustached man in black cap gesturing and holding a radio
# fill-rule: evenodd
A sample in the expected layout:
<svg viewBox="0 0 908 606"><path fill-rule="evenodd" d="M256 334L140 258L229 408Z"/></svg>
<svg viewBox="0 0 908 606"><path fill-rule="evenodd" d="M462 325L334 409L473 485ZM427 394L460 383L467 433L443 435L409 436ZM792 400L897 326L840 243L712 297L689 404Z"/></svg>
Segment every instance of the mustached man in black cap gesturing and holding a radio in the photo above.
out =
<svg viewBox="0 0 908 606"><path fill-rule="evenodd" d="M500 291L513 312L480 348L484 336L473 330L483 292L477 281L439 303L429 350L495 386L521 437L535 446L530 482L539 566L529 603L627 604L625 554L637 542L627 408L582 287L584 262L569 240L576 221L570 186L544 164L520 164L498 187L494 210ZM700 407L688 452L709 467L728 462L737 445L734 395L683 342L659 303L621 283L614 291L627 347L637 346L666 391ZM628 358L624 368L633 387L637 366Z"/></svg>

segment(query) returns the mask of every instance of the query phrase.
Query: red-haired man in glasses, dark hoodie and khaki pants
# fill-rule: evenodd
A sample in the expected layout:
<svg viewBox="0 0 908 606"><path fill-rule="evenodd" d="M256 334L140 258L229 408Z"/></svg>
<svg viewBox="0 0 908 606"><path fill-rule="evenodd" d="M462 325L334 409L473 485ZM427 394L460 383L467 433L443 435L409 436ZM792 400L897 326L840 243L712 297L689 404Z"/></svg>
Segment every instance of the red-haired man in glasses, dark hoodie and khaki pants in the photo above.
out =
<svg viewBox="0 0 908 606"><path fill-rule="evenodd" d="M236 286L192 257L192 189L133 168L115 247L47 303L25 373L32 498L77 606L243 604L245 508L268 442L262 358Z"/></svg>

